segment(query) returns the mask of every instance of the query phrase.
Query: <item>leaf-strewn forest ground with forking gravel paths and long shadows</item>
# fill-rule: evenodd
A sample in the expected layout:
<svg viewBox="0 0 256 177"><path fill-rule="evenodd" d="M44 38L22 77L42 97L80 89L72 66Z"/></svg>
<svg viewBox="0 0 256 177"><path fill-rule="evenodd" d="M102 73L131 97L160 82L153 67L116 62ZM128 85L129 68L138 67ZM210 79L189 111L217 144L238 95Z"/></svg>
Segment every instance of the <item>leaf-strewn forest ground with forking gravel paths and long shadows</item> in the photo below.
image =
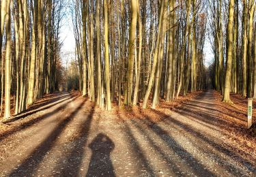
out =
<svg viewBox="0 0 256 177"><path fill-rule="evenodd" d="M47 95L0 124L0 176L256 176L246 99L231 99L106 112L78 93Z"/></svg>

